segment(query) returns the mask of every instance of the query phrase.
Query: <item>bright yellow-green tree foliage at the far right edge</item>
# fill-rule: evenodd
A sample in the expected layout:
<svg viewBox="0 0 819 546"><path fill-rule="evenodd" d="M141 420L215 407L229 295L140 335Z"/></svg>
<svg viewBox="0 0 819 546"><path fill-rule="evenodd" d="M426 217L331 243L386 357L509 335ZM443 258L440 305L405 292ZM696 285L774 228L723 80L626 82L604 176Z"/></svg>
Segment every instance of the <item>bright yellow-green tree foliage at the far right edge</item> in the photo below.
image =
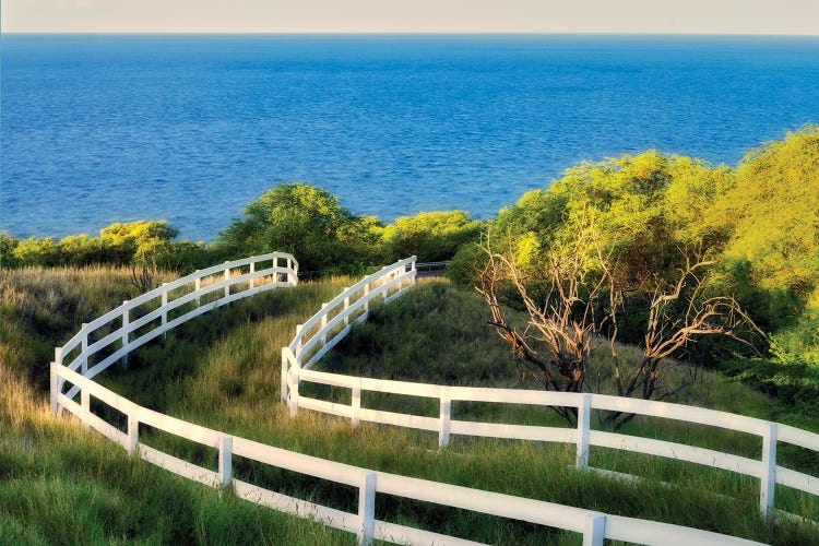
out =
<svg viewBox="0 0 819 546"><path fill-rule="evenodd" d="M749 153L714 206L729 223L725 258L749 307L794 356L819 353L819 127ZM776 337L776 335L774 335ZM819 359L815 359L819 364Z"/></svg>

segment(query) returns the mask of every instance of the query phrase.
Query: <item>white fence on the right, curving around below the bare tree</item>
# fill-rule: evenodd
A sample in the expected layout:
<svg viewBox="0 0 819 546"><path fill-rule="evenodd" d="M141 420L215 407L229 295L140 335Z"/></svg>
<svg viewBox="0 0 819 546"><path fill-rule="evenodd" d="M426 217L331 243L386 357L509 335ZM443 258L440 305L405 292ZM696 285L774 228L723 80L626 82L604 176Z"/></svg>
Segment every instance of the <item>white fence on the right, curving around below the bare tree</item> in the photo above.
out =
<svg viewBox="0 0 819 546"><path fill-rule="evenodd" d="M590 446L687 461L758 478L760 480L760 510L765 515L773 513L775 484L819 496L819 477L776 464L776 444L780 441L819 451L819 435L787 425L701 407L603 394L446 387L342 376L311 369L347 334L352 327L348 320L349 314L363 309L364 311L354 322L366 320L369 301L379 295L387 294L387 292L372 290L370 287L373 285L393 286L395 293L390 297L400 295L407 287L404 283L414 281L414 268L406 271L413 263L414 258L410 258L364 278L346 288L329 304L324 304L310 320L296 328L293 342L282 348L282 399L288 403L290 415L296 415L298 408L301 407L348 418L354 427L365 420L436 431L440 447L447 447L452 435L574 443L577 464L581 468L589 465ZM334 318L329 319L329 317ZM339 330L340 320L344 320L343 330ZM347 405L304 396L299 394L301 381L349 389L351 403ZM363 407L363 391L438 399L440 412L438 417L425 417ZM456 420L451 417L453 402L574 407L578 411L578 426L577 428L541 427ZM652 438L593 430L591 413L594 410L633 413L756 435L761 437L762 452L760 459L756 460Z"/></svg>

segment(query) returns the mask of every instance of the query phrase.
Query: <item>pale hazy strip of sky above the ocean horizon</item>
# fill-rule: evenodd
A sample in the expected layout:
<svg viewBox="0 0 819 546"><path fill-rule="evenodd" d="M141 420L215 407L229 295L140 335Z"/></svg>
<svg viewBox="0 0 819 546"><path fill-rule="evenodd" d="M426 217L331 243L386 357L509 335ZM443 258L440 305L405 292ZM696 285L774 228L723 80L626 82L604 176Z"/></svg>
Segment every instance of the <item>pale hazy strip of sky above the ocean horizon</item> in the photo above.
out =
<svg viewBox="0 0 819 546"><path fill-rule="evenodd" d="M819 0L2 0L3 32L819 34Z"/></svg>

